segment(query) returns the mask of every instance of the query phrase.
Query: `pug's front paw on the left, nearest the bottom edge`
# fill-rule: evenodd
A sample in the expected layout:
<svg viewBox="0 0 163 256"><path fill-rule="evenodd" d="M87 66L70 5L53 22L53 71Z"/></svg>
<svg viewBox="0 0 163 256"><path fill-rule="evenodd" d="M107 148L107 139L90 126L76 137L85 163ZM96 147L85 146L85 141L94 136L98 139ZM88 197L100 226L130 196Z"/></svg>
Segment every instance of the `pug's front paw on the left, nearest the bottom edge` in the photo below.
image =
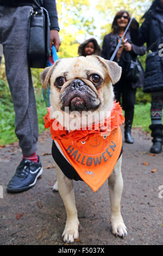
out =
<svg viewBox="0 0 163 256"><path fill-rule="evenodd" d="M79 237L79 221L67 221L62 238L64 242L72 243Z"/></svg>

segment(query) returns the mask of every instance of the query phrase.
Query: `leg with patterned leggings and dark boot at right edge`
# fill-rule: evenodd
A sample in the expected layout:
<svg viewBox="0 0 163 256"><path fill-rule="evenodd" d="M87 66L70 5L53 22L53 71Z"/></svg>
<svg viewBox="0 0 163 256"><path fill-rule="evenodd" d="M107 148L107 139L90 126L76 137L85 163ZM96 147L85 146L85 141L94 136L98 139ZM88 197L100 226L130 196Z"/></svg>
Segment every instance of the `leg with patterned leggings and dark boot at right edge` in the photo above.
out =
<svg viewBox="0 0 163 256"><path fill-rule="evenodd" d="M152 95L151 102L151 121L152 124L149 129L152 130L152 142L153 145L150 149L152 153L160 153L162 150L162 103L163 103L163 92L154 92Z"/></svg>

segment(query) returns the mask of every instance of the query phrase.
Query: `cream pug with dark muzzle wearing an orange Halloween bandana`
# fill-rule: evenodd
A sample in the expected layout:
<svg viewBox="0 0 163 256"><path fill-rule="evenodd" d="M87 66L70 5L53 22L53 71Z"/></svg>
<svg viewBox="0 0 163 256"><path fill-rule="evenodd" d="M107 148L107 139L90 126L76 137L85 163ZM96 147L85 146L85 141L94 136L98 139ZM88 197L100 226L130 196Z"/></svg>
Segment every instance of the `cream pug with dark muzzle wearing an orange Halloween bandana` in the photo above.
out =
<svg viewBox="0 0 163 256"><path fill-rule="evenodd" d="M81 115L84 111L87 119L84 119L84 125L91 125L91 115L93 122L99 118L98 113L111 111L114 106L114 92L112 84L120 80L121 67L117 63L105 60L98 56L75 57L59 59L51 67L45 68L41 74L41 83L43 88L47 88L49 83L51 88L50 119L56 119L71 132L70 121L75 121L76 129L81 126ZM69 111L65 111L65 108ZM72 112L77 112L71 117ZM63 117L64 118L61 118ZM67 121L68 120L68 121ZM98 119L99 120L99 119ZM83 125L83 124L82 124ZM64 202L67 219L65 229L62 233L64 242L74 242L79 237L79 220L74 196L73 180L68 176L68 166L71 164L66 160L66 156L59 147L57 141L54 141L55 150L60 151L61 161L65 161L65 172L61 170L59 163L57 167L58 180L53 190L59 191ZM57 154L57 153L56 153ZM57 155L56 159L60 158ZM66 163L67 162L67 163ZM127 228L121 215L120 202L123 189L123 179L121 174L122 155L118 158L114 169L109 178L109 195L111 205L111 226L112 233L124 237L127 235ZM89 172L90 174L91 172ZM67 176L69 178L67 178Z"/></svg>

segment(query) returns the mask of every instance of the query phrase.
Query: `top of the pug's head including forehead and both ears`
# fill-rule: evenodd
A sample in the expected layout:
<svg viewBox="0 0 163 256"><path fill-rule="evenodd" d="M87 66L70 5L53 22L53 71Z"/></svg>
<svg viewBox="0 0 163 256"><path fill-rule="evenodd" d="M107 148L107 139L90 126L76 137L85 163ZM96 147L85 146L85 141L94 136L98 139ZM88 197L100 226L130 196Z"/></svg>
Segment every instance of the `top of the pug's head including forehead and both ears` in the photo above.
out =
<svg viewBox="0 0 163 256"><path fill-rule="evenodd" d="M106 83L117 83L121 77L121 67L116 62L103 59L99 56L80 56L74 58L59 59L53 66L45 68L41 74L43 88L47 88L49 80L54 83L55 79L63 76L66 81L73 78L88 78L91 74L99 75Z"/></svg>

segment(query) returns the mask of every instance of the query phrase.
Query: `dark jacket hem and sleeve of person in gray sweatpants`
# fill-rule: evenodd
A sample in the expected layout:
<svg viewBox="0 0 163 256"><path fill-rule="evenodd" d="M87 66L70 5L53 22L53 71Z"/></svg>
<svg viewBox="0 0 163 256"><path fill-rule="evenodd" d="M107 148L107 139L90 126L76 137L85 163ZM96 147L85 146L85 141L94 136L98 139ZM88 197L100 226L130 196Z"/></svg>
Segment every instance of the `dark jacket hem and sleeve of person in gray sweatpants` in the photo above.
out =
<svg viewBox="0 0 163 256"><path fill-rule="evenodd" d="M18 7L23 5L35 6L35 2L48 11L49 19L51 21L51 29L56 29L59 31L55 0L0 0L0 5L7 5L9 7Z"/></svg>

